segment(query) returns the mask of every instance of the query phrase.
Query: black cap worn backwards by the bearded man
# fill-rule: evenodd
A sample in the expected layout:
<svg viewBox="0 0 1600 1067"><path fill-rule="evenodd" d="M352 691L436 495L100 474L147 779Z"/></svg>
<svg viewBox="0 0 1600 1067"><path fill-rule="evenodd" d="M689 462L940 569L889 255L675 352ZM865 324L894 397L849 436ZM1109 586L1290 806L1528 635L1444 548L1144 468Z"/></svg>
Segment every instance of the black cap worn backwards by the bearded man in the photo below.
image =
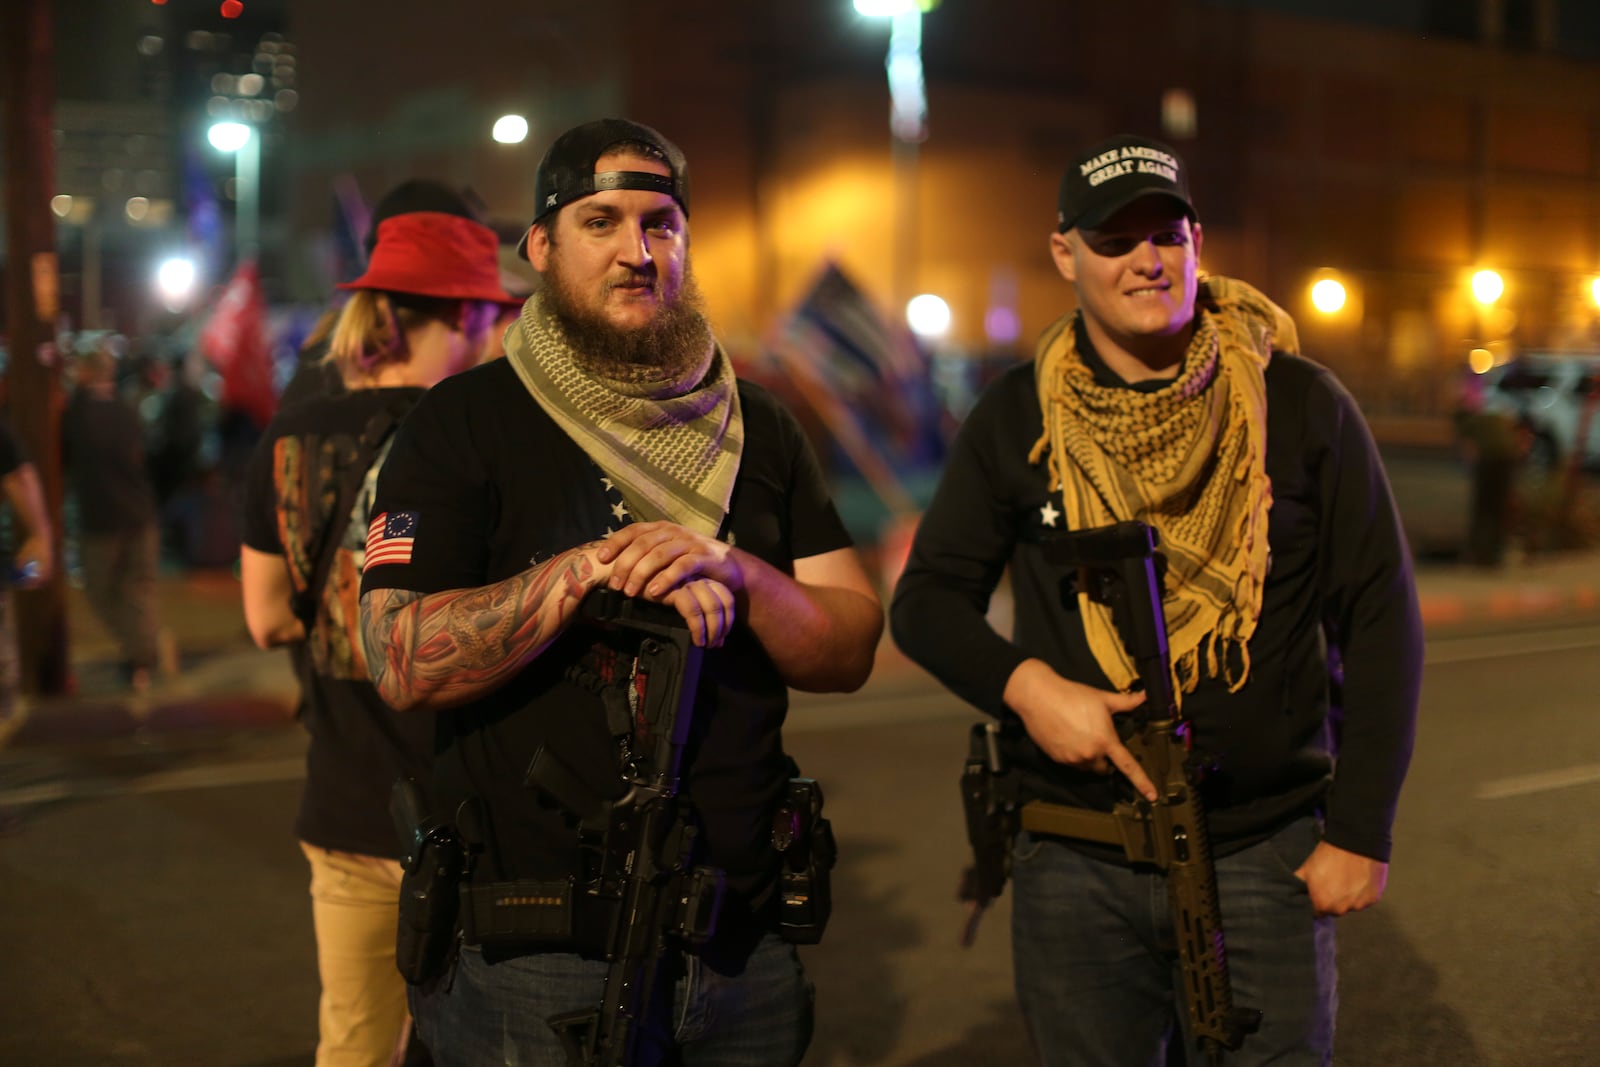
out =
<svg viewBox="0 0 1600 1067"><path fill-rule="evenodd" d="M648 144L661 152L662 162L670 176L651 171L605 171L595 173L595 162L618 144L634 141ZM650 126L627 118L597 118L581 126L573 126L555 139L550 149L539 160L539 170L533 176L534 216L530 226L538 226L541 219L560 211L573 200L592 197L606 189L643 189L646 192L664 192L678 202L683 216L690 213L690 165L683 158L678 146L667 141ZM517 254L528 258L528 235L522 235Z"/></svg>

